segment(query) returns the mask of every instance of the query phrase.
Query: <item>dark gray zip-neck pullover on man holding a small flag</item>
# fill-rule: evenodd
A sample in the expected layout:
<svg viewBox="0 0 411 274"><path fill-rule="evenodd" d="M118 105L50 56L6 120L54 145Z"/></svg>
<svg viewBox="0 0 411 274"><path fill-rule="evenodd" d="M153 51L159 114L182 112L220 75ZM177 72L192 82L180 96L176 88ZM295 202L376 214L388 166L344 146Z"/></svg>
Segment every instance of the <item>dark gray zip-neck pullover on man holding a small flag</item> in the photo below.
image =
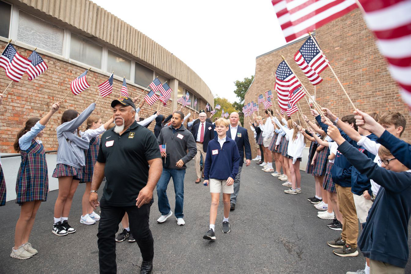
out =
<svg viewBox="0 0 411 274"><path fill-rule="evenodd" d="M196 156L197 146L193 134L183 125L175 133L173 133L172 125L163 127L157 141L159 145L166 145L166 163L169 164L166 164L165 168L185 169L187 168L185 164ZM184 165L182 168L177 168L175 163L180 159L184 162Z"/></svg>

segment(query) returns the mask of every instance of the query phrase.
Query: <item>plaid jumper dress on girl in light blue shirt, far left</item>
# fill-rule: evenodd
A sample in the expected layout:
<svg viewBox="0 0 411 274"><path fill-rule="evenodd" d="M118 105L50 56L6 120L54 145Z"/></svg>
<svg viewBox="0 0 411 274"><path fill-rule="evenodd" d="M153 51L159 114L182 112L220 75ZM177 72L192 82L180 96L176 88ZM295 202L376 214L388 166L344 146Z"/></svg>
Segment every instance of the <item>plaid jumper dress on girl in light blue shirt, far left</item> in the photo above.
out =
<svg viewBox="0 0 411 274"><path fill-rule="evenodd" d="M47 200L48 170L46 151L41 143L32 140L27 150L20 151L21 163L16 180L16 203Z"/></svg>

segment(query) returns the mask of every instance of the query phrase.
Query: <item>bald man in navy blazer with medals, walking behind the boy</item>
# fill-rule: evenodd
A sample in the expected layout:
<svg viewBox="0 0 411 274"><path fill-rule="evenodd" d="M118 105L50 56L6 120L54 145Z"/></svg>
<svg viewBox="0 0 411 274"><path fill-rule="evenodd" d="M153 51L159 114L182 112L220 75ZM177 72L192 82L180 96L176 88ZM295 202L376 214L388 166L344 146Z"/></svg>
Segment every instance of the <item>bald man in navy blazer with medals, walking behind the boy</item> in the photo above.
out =
<svg viewBox="0 0 411 274"><path fill-rule="evenodd" d="M230 128L227 131L227 136L229 136L231 139L236 141L238 152L240 152L240 158L241 158L240 165L238 167L238 173L237 173L236 179L234 179L234 193L231 194L230 210L236 209L238 191L240 190L241 169L242 169L242 164L244 163L244 152L245 152L245 159L246 159L245 166L249 166L251 163L251 147L250 147L250 142L248 140L247 129L240 127L238 125L238 120L239 120L238 113L233 112L230 114Z"/></svg>

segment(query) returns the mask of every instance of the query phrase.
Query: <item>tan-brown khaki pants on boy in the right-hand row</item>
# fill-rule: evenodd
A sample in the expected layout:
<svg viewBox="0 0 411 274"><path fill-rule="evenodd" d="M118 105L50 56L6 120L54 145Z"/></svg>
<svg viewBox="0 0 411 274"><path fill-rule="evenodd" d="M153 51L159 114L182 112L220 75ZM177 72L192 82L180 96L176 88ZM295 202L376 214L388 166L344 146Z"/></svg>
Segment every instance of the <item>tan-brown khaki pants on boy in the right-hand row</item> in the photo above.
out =
<svg viewBox="0 0 411 274"><path fill-rule="evenodd" d="M339 211L343 219L341 237L346 244L357 248L358 218L351 187L341 187L339 184L335 184L335 187Z"/></svg>

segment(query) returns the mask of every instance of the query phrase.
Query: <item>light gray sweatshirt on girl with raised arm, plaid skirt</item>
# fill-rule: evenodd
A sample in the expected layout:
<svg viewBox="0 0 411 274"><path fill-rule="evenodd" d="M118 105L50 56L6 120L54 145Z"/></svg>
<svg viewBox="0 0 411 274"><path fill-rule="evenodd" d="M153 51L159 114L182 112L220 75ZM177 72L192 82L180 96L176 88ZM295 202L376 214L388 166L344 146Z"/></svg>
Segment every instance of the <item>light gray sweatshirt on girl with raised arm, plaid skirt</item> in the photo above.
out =
<svg viewBox="0 0 411 274"><path fill-rule="evenodd" d="M78 117L57 127L57 163L75 168L85 166L84 150L88 150L90 141L86 136L79 137L75 133L95 108L96 104L92 103Z"/></svg>

